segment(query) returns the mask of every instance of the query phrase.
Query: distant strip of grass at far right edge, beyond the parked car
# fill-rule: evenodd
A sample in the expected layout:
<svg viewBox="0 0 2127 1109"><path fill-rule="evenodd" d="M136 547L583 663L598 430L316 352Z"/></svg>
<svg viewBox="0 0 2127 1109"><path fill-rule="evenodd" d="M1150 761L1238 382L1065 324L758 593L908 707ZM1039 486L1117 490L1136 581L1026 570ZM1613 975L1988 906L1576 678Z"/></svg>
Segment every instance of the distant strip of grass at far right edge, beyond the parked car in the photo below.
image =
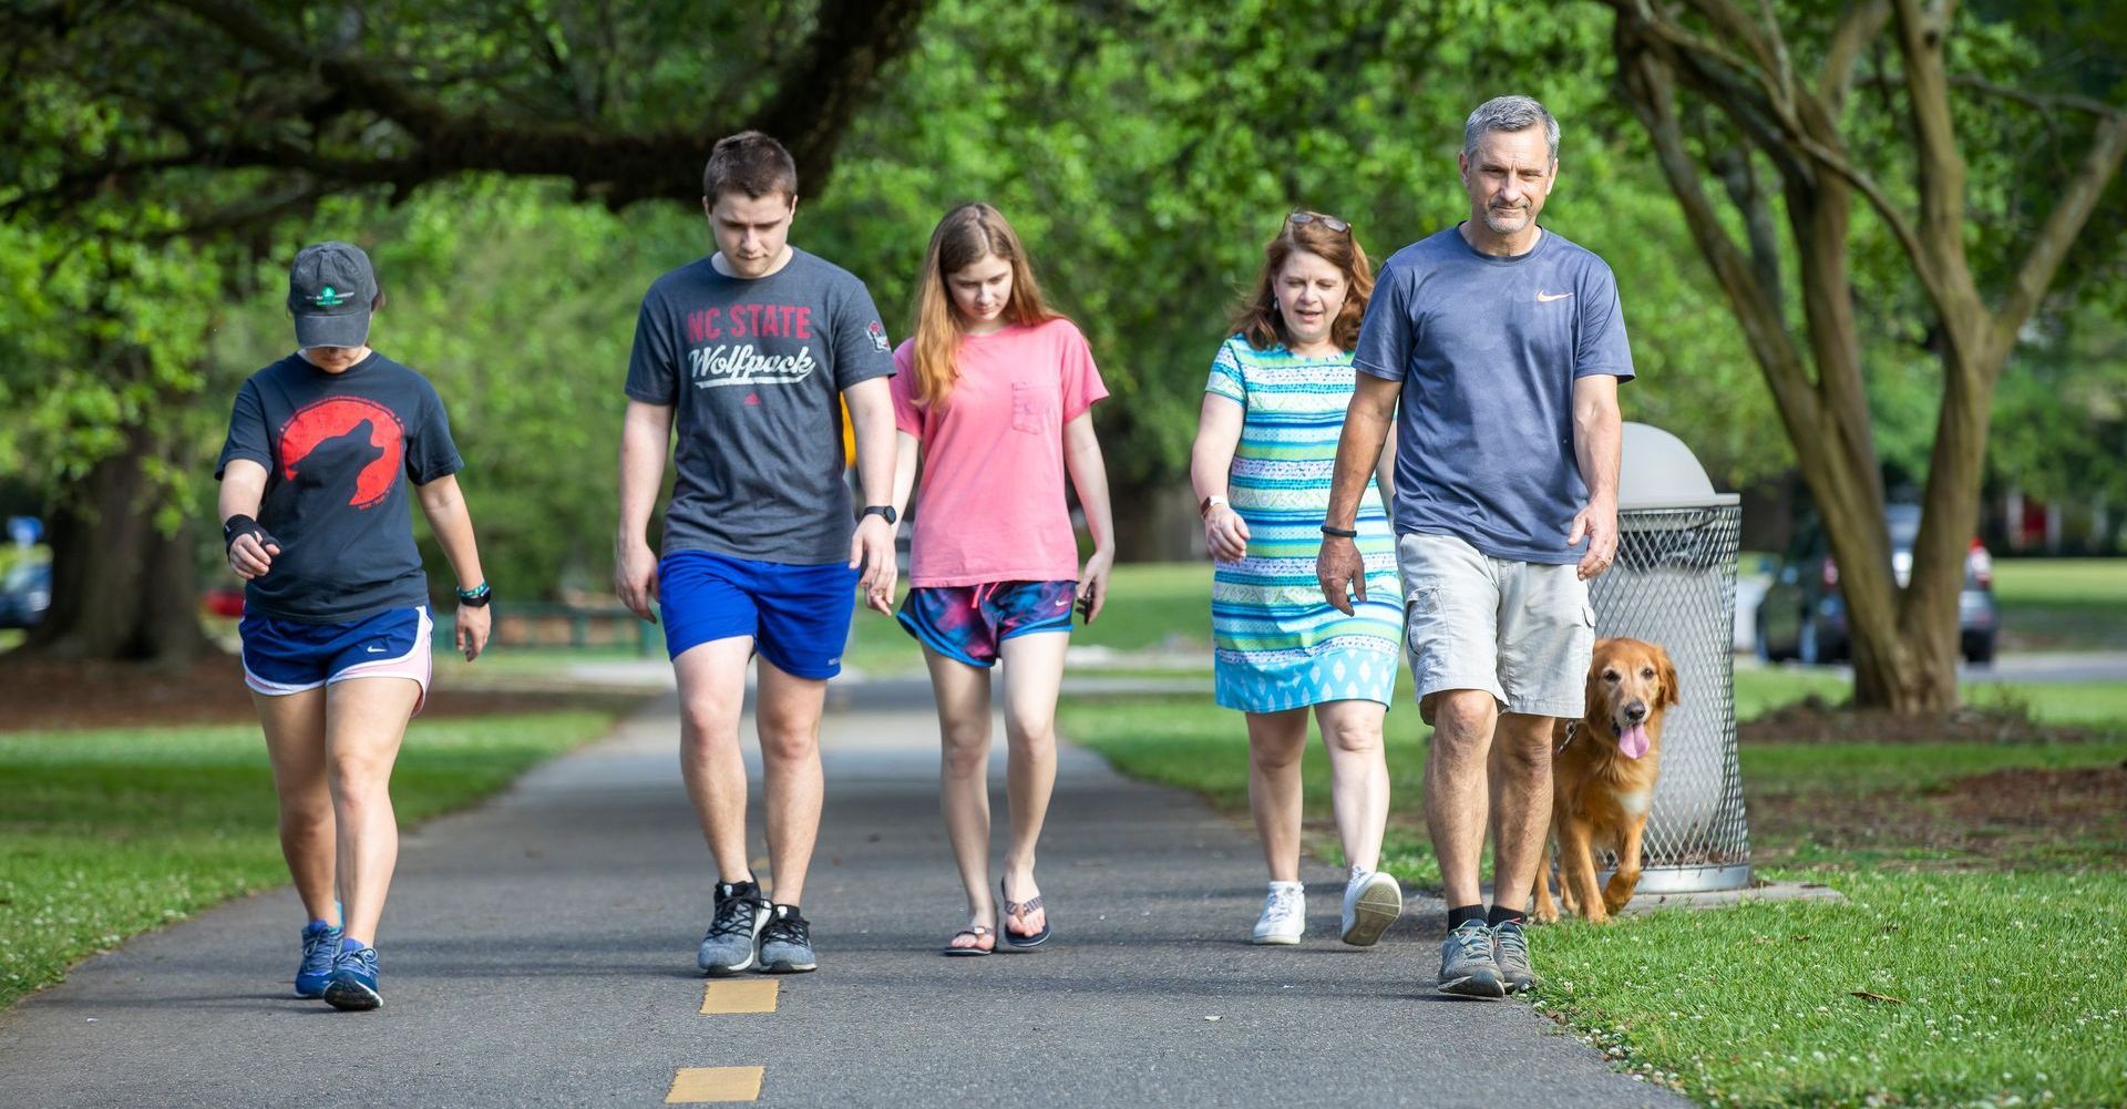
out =
<svg viewBox="0 0 2127 1109"><path fill-rule="evenodd" d="M2127 558L1995 560L2002 645L2127 651Z"/></svg>

